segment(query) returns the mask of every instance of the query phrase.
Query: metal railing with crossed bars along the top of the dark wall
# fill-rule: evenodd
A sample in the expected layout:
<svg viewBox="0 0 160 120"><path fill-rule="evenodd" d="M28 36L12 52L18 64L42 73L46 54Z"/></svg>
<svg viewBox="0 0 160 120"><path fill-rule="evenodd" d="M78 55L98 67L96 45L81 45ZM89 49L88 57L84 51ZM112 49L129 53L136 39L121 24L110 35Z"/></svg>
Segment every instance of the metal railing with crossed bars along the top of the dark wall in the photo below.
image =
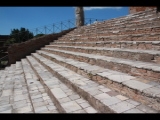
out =
<svg viewBox="0 0 160 120"><path fill-rule="evenodd" d="M104 19L95 19L95 18L85 18L85 23L84 25L90 25L93 24L94 22L98 21L103 21ZM44 25L42 27L37 27L34 29L29 29L29 32L33 34L33 36L36 36L38 34L53 34L53 33L59 33L63 30L71 29L76 27L76 19L70 19L70 20L65 20L49 25ZM23 34L24 32L19 32L16 34L12 34L13 36L15 35L18 38L18 41L23 42L21 39L31 39L29 34ZM23 35L23 36L22 36ZM10 36L12 38L12 36Z"/></svg>

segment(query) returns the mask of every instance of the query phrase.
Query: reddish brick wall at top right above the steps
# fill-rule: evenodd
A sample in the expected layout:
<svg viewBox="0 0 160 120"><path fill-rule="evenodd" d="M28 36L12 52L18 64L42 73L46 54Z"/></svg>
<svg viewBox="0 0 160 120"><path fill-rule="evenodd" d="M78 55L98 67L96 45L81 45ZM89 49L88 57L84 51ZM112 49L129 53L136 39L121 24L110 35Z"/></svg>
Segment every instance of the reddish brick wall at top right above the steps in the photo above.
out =
<svg viewBox="0 0 160 120"><path fill-rule="evenodd" d="M146 10L148 10L148 9L153 9L153 8L156 8L156 6L149 6L149 7L146 7L146 6L130 7L130 8L129 8L129 13L130 13L130 14L133 14L133 13L136 13L136 12L146 11Z"/></svg>

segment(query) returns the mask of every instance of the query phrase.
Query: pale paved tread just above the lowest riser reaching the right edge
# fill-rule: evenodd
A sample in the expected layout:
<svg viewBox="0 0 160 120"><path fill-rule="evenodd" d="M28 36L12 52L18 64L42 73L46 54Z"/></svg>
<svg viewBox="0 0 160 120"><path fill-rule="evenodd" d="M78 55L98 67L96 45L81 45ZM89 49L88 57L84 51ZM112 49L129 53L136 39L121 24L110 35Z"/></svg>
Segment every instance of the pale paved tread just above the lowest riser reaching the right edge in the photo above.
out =
<svg viewBox="0 0 160 120"><path fill-rule="evenodd" d="M65 59L66 59L65 57L61 57L61 56L54 55L54 54L44 52L44 51L38 51L38 53L48 55L51 58L57 59L58 61L65 62ZM144 92L150 91L151 87L154 86L154 85L151 85L151 84L147 84L147 83L144 83L144 82L137 81L136 77L130 76L130 75L125 74L125 73L120 73L120 72L117 72L117 71L112 71L112 70L104 69L104 68L102 68L103 71L98 71L99 69L101 69L101 67L99 67L99 66L95 66L95 65L92 66L92 65L87 64L87 63L84 63L85 66L83 66L83 65L80 66L83 62L78 62L78 61L73 60L73 59L71 59L71 60L72 60L72 62L70 61L70 62L66 62L66 63L69 63L72 66L77 66L78 68L84 69L85 72L88 72L88 73L91 73L91 74L92 74L93 70L97 69L97 73L96 73L97 75L99 75L101 77L105 77L109 80L112 80L112 81L115 81L115 82L118 82L118 83L122 83L123 85L126 85L130 88L133 88L133 89L136 89L136 90L139 90L139 91L142 91L142 90L144 90ZM158 85L158 83L157 83L157 85ZM150 89L147 90L147 88L150 88ZM157 89L157 90L159 89L158 87L154 87L154 88ZM160 89L158 91L160 91ZM153 90L152 90L152 92L153 92ZM158 94L158 93L159 92L156 92L155 94Z"/></svg>

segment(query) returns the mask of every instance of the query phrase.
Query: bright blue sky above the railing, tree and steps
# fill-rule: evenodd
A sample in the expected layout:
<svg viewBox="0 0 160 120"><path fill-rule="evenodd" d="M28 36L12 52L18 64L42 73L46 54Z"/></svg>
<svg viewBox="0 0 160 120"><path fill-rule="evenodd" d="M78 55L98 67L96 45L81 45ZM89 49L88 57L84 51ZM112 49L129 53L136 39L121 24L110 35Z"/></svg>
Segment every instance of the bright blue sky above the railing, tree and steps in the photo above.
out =
<svg viewBox="0 0 160 120"><path fill-rule="evenodd" d="M129 7L84 7L85 18L111 19L129 14ZM51 25L75 19L75 8L68 7L0 7L0 35L8 35L11 29Z"/></svg>

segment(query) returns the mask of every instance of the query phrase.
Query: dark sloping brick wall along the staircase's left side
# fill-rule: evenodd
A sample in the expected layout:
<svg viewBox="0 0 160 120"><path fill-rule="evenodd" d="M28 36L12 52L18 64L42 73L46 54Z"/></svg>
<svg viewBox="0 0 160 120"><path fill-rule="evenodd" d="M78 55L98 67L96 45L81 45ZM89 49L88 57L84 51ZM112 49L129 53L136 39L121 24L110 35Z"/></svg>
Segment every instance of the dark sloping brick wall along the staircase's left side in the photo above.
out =
<svg viewBox="0 0 160 120"><path fill-rule="evenodd" d="M45 35L39 38L33 38L26 42L11 45L7 50L8 57L9 57L9 65L15 64L16 61L21 60L22 58L25 58L27 55L30 55L31 53L35 52L41 47L44 47L50 42L57 40L58 37L65 35L66 33L70 32L73 29L65 30L56 34Z"/></svg>

